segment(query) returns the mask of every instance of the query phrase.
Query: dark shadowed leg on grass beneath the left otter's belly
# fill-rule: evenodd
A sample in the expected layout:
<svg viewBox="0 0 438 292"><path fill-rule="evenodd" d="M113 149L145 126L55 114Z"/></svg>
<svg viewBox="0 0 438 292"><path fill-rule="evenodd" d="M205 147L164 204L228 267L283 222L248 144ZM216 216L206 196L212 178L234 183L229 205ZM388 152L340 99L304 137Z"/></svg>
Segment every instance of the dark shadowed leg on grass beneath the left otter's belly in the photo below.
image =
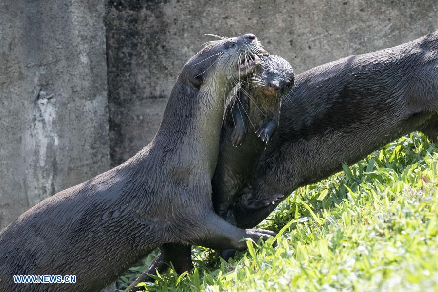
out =
<svg viewBox="0 0 438 292"><path fill-rule="evenodd" d="M160 249L161 253L152 261L147 270L129 285L129 291L141 290L141 287L135 286L141 282L152 282L154 279L150 275L156 274L157 271L159 273L166 271L170 268L170 263L178 274L193 269L192 247L190 245L166 243Z"/></svg>

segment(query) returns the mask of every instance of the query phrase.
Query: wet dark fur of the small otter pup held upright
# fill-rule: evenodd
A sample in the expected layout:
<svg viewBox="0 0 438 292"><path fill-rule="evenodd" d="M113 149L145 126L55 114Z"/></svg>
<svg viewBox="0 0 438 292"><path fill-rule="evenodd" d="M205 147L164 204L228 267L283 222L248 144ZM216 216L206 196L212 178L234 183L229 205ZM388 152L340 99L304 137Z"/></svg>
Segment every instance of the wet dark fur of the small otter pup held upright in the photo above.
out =
<svg viewBox="0 0 438 292"><path fill-rule="evenodd" d="M285 59L265 57L250 84L244 83L237 92L239 98L230 103L222 126L218 164L212 180L213 207L220 217L226 218L228 209L237 200L234 196L251 179L266 146L258 136L266 134L267 143L276 130L281 99L293 86L294 79L293 69ZM264 90L272 89L273 83L278 86L274 96L266 95ZM244 106L247 102L249 107ZM234 109L238 109L236 113L233 113ZM241 137L241 142L237 141L239 146L233 146L230 141L236 133L236 124L241 121L245 124L246 134Z"/></svg>

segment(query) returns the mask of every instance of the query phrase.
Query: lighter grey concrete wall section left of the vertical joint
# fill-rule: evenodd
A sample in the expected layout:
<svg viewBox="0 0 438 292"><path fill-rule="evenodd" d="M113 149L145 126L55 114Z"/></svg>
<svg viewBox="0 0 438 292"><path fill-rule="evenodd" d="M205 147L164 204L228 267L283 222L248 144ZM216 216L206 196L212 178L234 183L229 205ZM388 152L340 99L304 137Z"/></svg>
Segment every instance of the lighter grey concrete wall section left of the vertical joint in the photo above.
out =
<svg viewBox="0 0 438 292"><path fill-rule="evenodd" d="M0 230L110 168L104 11L0 2Z"/></svg>

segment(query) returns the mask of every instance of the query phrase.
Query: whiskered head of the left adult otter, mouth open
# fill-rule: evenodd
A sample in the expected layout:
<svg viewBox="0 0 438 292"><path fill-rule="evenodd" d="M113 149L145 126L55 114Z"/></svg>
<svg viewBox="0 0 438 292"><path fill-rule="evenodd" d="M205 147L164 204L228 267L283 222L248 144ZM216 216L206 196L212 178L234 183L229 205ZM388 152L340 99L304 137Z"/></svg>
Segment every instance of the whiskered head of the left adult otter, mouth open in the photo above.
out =
<svg viewBox="0 0 438 292"><path fill-rule="evenodd" d="M184 65L182 75L192 86L200 88L212 83L220 86L241 79L255 70L260 57L267 55L253 34L219 38L205 43Z"/></svg>

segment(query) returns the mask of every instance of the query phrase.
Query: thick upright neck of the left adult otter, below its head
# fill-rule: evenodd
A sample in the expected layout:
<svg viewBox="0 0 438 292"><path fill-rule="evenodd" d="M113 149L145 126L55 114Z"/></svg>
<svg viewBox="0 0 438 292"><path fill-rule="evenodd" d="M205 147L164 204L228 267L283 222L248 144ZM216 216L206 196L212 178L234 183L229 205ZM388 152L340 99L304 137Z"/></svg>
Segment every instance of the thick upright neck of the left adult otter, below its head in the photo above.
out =
<svg viewBox="0 0 438 292"><path fill-rule="evenodd" d="M219 153L225 99L231 85L204 84L199 89L177 80L153 147L174 167L191 175L213 176Z"/></svg>

